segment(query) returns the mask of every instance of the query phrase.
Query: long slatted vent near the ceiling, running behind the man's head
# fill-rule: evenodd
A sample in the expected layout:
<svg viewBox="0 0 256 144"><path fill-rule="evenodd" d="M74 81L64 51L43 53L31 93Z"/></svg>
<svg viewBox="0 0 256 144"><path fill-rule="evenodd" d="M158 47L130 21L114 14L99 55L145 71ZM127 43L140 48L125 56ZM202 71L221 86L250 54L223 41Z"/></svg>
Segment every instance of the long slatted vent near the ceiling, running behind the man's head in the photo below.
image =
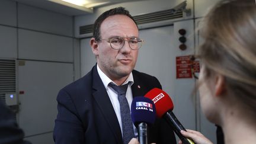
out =
<svg viewBox="0 0 256 144"><path fill-rule="evenodd" d="M133 18L137 24L152 23L156 21L172 20L175 18L182 18L183 10L173 11L172 9L167 9L164 11L152 12L149 14L136 15ZM79 27L79 34L92 33L93 24L84 25Z"/></svg>

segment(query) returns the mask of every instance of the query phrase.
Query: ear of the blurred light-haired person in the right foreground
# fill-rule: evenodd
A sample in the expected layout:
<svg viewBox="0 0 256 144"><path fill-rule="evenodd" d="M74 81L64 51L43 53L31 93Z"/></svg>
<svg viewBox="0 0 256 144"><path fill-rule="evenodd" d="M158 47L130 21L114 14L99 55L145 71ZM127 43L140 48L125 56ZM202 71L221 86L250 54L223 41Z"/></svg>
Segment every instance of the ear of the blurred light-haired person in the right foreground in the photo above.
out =
<svg viewBox="0 0 256 144"><path fill-rule="evenodd" d="M215 81L215 95L220 96L226 92L225 78L223 75L217 74Z"/></svg>

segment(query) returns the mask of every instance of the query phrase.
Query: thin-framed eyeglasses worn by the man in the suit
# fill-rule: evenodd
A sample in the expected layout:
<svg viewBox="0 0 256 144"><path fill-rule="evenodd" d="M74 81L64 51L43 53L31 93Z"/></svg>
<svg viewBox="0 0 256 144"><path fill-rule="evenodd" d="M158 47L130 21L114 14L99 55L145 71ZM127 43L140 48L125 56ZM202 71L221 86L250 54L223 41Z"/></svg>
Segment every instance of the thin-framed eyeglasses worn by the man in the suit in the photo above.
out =
<svg viewBox="0 0 256 144"><path fill-rule="evenodd" d="M142 46L142 43L144 41L136 37L113 37L111 39L101 40L106 40L108 43L110 43L110 46L115 50L121 49L124 46L124 41L128 41L131 49L138 50Z"/></svg>

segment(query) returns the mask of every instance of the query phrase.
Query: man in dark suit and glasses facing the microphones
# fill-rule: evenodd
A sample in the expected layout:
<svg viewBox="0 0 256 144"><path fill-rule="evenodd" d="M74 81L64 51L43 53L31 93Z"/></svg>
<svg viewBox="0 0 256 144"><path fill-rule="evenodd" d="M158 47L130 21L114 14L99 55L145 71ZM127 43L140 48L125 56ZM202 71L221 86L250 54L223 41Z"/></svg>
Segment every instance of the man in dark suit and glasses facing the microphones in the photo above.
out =
<svg viewBox="0 0 256 144"><path fill-rule="evenodd" d="M90 41L97 64L57 95L55 143L127 144L123 142L126 132L122 129L125 124L121 120L119 94L110 83L127 84L129 106L133 97L143 96L155 87L162 88L155 77L133 70L142 42L137 24L126 9L110 9L97 18ZM132 129L136 137L135 126ZM174 144L176 140L171 127L156 119L149 127L148 142Z"/></svg>

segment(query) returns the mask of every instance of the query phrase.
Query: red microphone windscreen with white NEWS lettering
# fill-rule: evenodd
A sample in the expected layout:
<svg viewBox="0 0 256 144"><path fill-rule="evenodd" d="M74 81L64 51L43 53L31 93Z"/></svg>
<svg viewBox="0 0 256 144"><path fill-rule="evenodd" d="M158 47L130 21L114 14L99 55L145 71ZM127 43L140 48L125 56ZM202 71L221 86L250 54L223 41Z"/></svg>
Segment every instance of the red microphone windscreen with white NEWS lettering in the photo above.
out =
<svg viewBox="0 0 256 144"><path fill-rule="evenodd" d="M174 105L169 95L162 89L153 88L145 97L151 99L156 107L156 116L162 117L168 110L173 110Z"/></svg>

